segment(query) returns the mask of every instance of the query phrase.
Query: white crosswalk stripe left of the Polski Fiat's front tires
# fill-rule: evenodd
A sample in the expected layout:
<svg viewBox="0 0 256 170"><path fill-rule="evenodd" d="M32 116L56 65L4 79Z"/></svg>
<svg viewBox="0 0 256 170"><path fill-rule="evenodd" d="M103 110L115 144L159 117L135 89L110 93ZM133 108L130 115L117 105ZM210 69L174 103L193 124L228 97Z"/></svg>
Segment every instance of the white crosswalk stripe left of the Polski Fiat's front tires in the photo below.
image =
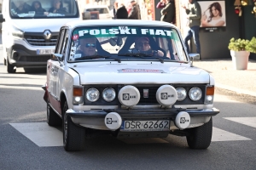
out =
<svg viewBox="0 0 256 170"><path fill-rule="evenodd" d="M62 146L62 132L46 122L10 123L39 147Z"/></svg>

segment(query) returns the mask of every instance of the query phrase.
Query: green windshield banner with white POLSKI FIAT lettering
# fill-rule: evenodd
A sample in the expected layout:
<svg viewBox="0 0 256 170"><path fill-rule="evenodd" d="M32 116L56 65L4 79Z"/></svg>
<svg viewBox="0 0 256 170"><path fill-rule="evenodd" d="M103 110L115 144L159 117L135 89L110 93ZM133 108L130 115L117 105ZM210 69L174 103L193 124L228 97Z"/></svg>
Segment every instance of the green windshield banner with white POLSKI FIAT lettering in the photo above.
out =
<svg viewBox="0 0 256 170"><path fill-rule="evenodd" d="M84 37L109 37L109 36L153 36L153 37L168 37L172 39L172 29L166 27L91 27L91 28L79 28L73 31L73 41L78 38ZM78 37L79 36L79 37Z"/></svg>

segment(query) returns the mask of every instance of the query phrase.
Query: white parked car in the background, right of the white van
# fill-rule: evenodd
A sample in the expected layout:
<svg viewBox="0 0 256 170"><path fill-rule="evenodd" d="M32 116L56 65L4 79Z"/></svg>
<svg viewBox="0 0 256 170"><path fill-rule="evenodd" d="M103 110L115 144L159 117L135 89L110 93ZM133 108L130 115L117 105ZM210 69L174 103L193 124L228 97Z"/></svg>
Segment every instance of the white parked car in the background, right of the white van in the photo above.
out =
<svg viewBox="0 0 256 170"><path fill-rule="evenodd" d="M112 20L108 5L86 5L84 12L90 12L90 20Z"/></svg>

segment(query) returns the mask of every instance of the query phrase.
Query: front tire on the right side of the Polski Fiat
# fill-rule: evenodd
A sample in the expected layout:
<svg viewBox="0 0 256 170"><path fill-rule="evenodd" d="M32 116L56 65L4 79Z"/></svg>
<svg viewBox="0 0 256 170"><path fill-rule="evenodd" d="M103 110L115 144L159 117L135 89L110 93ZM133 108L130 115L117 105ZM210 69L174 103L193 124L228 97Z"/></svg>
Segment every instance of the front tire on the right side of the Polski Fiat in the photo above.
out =
<svg viewBox="0 0 256 170"><path fill-rule="evenodd" d="M188 128L189 136L187 142L189 148L195 150L204 150L209 147L212 141L212 117L209 122L201 127Z"/></svg>

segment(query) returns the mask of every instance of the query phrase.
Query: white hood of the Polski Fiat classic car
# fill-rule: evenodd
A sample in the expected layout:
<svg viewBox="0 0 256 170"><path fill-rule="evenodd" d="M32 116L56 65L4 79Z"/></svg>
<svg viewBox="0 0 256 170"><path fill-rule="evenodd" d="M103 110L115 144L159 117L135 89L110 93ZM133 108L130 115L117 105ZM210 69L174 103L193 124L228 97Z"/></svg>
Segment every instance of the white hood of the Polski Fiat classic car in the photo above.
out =
<svg viewBox="0 0 256 170"><path fill-rule="evenodd" d="M81 84L209 83L207 71L189 65L77 65Z"/></svg>

